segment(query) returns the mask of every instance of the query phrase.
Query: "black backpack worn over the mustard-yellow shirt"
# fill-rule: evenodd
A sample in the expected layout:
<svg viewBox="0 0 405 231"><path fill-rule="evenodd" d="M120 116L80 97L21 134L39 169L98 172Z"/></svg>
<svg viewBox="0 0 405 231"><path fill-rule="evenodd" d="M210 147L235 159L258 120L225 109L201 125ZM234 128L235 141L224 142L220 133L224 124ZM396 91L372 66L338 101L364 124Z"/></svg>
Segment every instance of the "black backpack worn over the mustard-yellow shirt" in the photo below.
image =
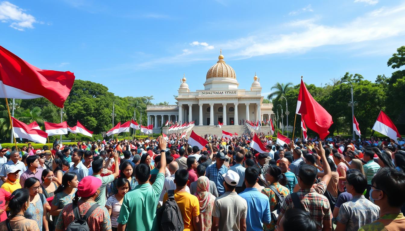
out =
<svg viewBox="0 0 405 231"><path fill-rule="evenodd" d="M168 199L164 202L158 214L159 231L183 231L183 217L175 201L174 190L169 190L167 195Z"/></svg>

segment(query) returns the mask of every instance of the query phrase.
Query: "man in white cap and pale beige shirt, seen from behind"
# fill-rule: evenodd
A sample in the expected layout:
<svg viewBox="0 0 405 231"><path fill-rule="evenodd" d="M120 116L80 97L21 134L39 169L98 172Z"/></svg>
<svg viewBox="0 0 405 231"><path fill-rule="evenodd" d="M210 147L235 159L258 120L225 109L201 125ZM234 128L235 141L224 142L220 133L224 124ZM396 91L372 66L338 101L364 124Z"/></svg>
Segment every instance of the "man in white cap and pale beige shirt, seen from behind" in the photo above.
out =
<svg viewBox="0 0 405 231"><path fill-rule="evenodd" d="M222 177L225 193L215 199L211 230L218 231L219 227L223 231L246 230L247 203L235 192L239 174L228 170Z"/></svg>

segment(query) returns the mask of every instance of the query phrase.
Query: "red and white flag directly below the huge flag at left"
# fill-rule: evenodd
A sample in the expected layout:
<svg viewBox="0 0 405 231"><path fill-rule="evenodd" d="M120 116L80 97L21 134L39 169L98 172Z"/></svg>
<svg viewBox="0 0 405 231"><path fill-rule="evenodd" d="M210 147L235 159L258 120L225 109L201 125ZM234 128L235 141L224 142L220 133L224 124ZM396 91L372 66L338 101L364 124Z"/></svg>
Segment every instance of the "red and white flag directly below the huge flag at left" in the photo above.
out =
<svg viewBox="0 0 405 231"><path fill-rule="evenodd" d="M48 134L40 129L31 129L25 123L11 117L13 122L13 133L15 138L24 138L41 144L47 142Z"/></svg>

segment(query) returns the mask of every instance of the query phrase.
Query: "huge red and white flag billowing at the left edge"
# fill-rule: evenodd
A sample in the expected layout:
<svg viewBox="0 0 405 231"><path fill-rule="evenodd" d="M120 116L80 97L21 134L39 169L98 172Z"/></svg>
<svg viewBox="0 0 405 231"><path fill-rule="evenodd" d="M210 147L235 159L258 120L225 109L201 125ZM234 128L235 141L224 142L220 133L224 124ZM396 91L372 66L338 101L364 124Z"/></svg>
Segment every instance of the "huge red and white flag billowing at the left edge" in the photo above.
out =
<svg viewBox="0 0 405 231"><path fill-rule="evenodd" d="M74 81L72 72L41 70L0 46L0 98L45 97L62 108Z"/></svg>

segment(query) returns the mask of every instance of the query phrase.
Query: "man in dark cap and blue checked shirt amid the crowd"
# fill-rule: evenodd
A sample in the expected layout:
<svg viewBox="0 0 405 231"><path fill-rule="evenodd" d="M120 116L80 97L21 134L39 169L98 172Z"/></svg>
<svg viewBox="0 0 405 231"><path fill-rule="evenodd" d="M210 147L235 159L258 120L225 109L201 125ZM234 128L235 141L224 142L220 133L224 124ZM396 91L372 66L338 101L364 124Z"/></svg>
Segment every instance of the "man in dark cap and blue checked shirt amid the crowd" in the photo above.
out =
<svg viewBox="0 0 405 231"><path fill-rule="evenodd" d="M228 161L228 158L224 153L219 152L215 155L215 160L215 163L209 165L205 170L205 176L215 183L217 186L218 195L221 196L225 193L224 177L222 174L228 172L228 168L224 166L224 163L225 161Z"/></svg>

